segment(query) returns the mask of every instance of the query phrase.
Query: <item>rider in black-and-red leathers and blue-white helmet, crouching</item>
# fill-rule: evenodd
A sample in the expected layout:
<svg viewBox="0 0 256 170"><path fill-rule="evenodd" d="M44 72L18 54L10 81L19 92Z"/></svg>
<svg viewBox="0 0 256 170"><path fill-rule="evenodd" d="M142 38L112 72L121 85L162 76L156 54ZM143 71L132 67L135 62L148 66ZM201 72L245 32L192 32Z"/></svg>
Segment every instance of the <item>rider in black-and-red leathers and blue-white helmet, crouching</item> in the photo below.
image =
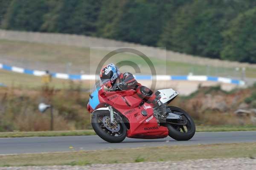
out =
<svg viewBox="0 0 256 170"><path fill-rule="evenodd" d="M107 66L103 66L100 71L100 79L108 89L115 90L116 87L118 87L120 90L136 90L137 94L142 99L153 103L155 106L162 110L163 118L167 115L166 105L163 104L156 95L154 95L151 89L138 83L131 73L120 73L118 67L115 64L111 63Z"/></svg>

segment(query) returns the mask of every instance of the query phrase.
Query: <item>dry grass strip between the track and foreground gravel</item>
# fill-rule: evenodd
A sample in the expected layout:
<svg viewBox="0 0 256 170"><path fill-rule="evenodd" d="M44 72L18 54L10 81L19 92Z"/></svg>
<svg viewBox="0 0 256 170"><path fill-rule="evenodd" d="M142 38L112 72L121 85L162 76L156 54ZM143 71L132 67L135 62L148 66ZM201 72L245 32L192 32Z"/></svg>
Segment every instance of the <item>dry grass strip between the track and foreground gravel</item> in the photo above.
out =
<svg viewBox="0 0 256 170"><path fill-rule="evenodd" d="M87 165L256 156L256 143L209 144L0 156L0 166Z"/></svg>

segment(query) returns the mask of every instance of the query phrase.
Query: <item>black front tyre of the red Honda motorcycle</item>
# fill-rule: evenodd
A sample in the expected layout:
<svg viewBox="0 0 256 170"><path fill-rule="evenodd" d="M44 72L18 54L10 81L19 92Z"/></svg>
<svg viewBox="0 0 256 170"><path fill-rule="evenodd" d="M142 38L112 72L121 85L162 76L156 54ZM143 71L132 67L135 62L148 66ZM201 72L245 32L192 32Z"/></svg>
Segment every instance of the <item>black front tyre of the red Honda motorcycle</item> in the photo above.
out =
<svg viewBox="0 0 256 170"><path fill-rule="evenodd" d="M97 135L99 135L100 138L102 138L105 141L108 141L110 143L119 143L123 141L126 137L127 128L122 120L118 122L120 130L115 133L108 130L104 124L101 122L101 118L107 116L110 116L110 112L108 110L96 110L92 114L91 124L93 127L93 130L96 132Z"/></svg>

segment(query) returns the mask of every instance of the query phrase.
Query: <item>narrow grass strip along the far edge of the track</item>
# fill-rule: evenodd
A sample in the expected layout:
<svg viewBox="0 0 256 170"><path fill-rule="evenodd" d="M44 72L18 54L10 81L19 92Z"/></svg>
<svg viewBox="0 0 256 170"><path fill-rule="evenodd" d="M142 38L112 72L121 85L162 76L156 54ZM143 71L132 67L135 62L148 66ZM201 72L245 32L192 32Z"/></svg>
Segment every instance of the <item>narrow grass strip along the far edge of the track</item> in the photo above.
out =
<svg viewBox="0 0 256 170"><path fill-rule="evenodd" d="M197 132L228 132L228 131L255 131L256 126L197 126ZM36 136L81 136L96 135L94 130L66 130L40 132L1 132L0 138L36 137Z"/></svg>

